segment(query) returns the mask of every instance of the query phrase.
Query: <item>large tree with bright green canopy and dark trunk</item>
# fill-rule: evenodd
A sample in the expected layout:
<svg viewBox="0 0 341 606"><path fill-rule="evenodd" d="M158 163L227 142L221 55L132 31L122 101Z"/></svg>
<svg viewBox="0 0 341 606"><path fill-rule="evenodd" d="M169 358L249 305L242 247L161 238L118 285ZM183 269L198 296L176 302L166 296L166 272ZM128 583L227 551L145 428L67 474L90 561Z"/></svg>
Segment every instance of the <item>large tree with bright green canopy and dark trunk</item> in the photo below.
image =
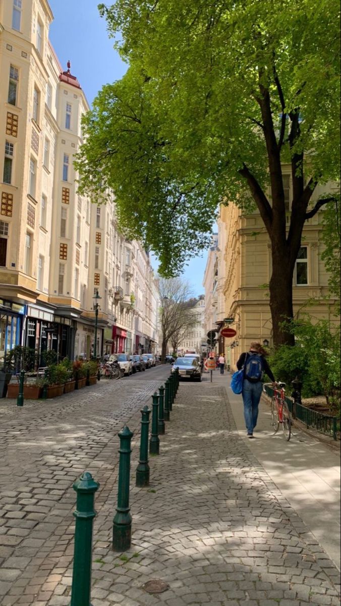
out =
<svg viewBox="0 0 341 606"><path fill-rule="evenodd" d="M94 201L179 275L208 245L218 205L255 204L272 254L275 345L293 344L293 272L302 229L339 178L339 7L334 0L117 0L99 5L129 62L84 119L76 166ZM285 207L283 163L293 201ZM267 191L270 190L270 195Z"/></svg>

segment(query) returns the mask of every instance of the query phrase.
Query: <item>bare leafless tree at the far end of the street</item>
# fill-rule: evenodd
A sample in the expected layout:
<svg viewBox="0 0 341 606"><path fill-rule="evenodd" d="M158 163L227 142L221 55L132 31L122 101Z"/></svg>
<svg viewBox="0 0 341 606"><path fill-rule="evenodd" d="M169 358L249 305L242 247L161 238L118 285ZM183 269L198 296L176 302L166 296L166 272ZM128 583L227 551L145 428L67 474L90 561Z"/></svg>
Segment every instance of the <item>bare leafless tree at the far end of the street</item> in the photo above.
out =
<svg viewBox="0 0 341 606"><path fill-rule="evenodd" d="M196 316L188 305L190 288L180 278L159 279L161 297L160 324L162 335L161 359L167 354L168 342L177 344L179 336L196 323Z"/></svg>

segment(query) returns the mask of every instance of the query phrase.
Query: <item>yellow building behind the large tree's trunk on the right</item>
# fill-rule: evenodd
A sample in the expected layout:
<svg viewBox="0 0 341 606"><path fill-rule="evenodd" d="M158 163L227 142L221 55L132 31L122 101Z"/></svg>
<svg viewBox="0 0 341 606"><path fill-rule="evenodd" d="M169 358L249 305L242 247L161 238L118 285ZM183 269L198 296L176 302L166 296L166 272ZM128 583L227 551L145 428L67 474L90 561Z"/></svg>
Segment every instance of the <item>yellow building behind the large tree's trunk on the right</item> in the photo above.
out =
<svg viewBox="0 0 341 606"><path fill-rule="evenodd" d="M291 178L288 171L287 176L286 195L290 207ZM329 185L328 190L331 187ZM314 205L325 190L326 188L317 188L311 204ZM306 311L316 320L333 318L335 301L328 299L328 274L321 260L322 213L319 211L303 228L302 246L293 280L296 317ZM236 360L242 351L248 350L250 341L266 340L270 347L273 344L268 290L271 246L258 211L246 215L234 204L221 206L218 227L221 239L225 242L220 267L225 305L217 320L233 318L230 327L237 334L234 338L224 339L223 347L227 362L236 368Z"/></svg>

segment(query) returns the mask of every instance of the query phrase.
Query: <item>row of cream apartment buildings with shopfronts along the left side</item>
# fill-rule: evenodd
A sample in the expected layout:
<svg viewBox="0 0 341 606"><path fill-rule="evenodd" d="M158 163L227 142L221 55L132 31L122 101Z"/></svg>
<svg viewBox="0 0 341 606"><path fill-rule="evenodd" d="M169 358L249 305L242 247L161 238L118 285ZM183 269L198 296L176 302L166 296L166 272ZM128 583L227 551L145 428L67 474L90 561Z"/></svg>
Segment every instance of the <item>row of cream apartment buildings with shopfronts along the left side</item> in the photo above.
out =
<svg viewBox="0 0 341 606"><path fill-rule="evenodd" d="M102 206L78 194L89 107L48 41L52 19L46 0L0 2L0 359L18 344L88 357L95 333L97 353L134 351L137 334L150 351L153 270L119 232L110 192Z"/></svg>

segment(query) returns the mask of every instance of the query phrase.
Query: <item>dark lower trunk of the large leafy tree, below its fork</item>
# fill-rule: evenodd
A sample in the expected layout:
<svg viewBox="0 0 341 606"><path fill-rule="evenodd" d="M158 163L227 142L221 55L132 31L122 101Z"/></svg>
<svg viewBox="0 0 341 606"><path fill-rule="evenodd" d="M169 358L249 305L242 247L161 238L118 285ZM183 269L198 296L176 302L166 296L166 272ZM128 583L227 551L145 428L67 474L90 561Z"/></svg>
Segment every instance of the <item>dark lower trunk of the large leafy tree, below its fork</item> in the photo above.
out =
<svg viewBox="0 0 341 606"><path fill-rule="evenodd" d="M294 335L286 330L283 322L292 320L293 274L295 265L288 256L276 255L273 251L273 273L270 279L270 310L273 322L274 347L294 345Z"/></svg>

